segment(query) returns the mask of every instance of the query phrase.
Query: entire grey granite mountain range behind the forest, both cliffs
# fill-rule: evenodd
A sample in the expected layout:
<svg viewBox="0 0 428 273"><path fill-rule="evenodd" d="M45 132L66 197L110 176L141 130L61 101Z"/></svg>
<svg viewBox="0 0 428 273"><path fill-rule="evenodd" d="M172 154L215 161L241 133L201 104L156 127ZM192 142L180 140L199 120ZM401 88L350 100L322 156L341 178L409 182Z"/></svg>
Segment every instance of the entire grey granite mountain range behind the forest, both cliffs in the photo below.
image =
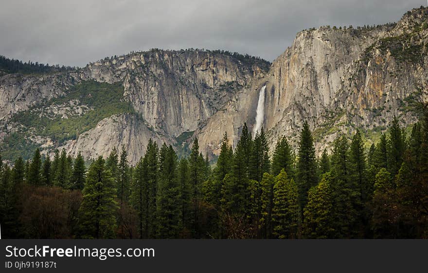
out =
<svg viewBox="0 0 428 273"><path fill-rule="evenodd" d="M198 137L215 158L225 131L235 144L244 122L254 128L260 97L271 147L281 135L295 143L303 120L318 150L351 134L349 125L370 143L394 115L416 121L428 101L427 22L420 8L396 24L304 30L272 64L224 51L153 49L62 72L3 71L1 154L64 147L93 158L125 145L135 162L149 138L185 154Z"/></svg>

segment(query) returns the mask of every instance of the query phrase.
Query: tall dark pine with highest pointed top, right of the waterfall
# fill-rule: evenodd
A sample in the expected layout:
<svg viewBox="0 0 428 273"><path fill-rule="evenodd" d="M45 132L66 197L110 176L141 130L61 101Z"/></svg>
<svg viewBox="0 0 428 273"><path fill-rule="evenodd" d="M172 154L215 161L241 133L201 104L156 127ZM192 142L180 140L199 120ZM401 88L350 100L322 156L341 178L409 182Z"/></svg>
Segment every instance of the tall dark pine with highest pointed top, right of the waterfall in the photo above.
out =
<svg viewBox="0 0 428 273"><path fill-rule="evenodd" d="M297 162L297 185L301 210L307 203L308 191L318 183L318 167L315 158L315 146L309 124L305 121L300 134Z"/></svg>

